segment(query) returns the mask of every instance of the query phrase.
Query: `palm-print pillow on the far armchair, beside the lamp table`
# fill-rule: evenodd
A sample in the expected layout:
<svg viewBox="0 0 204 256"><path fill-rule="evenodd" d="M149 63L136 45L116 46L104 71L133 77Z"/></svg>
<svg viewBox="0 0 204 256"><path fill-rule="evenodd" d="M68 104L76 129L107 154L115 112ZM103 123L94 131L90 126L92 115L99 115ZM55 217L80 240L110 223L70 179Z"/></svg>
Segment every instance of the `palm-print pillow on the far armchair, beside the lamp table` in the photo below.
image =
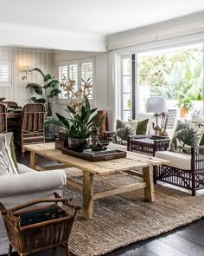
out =
<svg viewBox="0 0 204 256"><path fill-rule="evenodd" d="M127 138L130 135L136 135L137 121L117 120L116 134L112 142L121 145L127 145Z"/></svg>

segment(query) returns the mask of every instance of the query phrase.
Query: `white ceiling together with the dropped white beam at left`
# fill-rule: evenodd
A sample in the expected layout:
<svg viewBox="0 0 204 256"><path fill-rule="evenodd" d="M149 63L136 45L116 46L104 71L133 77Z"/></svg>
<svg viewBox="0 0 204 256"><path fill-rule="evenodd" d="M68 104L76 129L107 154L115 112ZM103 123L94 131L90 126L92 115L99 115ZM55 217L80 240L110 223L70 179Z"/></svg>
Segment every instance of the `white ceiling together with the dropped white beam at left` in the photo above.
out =
<svg viewBox="0 0 204 256"><path fill-rule="evenodd" d="M204 10L204 0L0 0L0 45L105 51L106 36Z"/></svg>

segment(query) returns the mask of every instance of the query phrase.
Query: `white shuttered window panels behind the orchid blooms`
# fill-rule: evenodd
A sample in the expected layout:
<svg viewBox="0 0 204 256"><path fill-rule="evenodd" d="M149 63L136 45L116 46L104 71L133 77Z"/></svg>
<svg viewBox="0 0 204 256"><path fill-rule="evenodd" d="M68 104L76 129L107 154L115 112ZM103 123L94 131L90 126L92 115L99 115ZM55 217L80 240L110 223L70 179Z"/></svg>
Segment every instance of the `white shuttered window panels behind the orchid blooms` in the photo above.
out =
<svg viewBox="0 0 204 256"><path fill-rule="evenodd" d="M83 79L85 82L90 78L89 82L92 84L92 95L89 95L89 99L93 99L94 88L94 61L93 59L83 59L80 61L62 62L59 63L59 81L62 82L63 75L66 79L70 78L75 80L77 89L80 89ZM60 98L67 100L65 92L62 92Z"/></svg>

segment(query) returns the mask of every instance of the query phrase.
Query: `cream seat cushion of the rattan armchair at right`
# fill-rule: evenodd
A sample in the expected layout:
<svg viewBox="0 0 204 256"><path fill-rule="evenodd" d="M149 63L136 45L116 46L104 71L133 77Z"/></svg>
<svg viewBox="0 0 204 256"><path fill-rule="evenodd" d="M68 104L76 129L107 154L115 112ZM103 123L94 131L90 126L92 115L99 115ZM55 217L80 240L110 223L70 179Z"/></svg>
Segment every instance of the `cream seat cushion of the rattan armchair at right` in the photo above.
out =
<svg viewBox="0 0 204 256"><path fill-rule="evenodd" d="M156 151L156 157L169 160L167 166L181 168L183 170L191 170L191 155L182 154L171 151Z"/></svg>

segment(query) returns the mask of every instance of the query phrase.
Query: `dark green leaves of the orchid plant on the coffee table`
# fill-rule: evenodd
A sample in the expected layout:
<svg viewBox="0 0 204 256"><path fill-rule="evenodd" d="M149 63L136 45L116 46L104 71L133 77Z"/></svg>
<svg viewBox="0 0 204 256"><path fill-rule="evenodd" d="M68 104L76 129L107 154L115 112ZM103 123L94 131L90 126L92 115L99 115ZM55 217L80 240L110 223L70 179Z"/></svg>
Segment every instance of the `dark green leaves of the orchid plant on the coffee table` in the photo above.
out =
<svg viewBox="0 0 204 256"><path fill-rule="evenodd" d="M99 117L99 113L93 115L97 108L90 108L90 103L86 97L85 104L81 107L80 111L67 106L69 117L66 118L59 113L56 113L58 120L49 120L45 124L53 123L58 127L65 128L67 137L73 139L86 139L92 135L92 125L99 127L104 117L98 123L95 123Z"/></svg>

